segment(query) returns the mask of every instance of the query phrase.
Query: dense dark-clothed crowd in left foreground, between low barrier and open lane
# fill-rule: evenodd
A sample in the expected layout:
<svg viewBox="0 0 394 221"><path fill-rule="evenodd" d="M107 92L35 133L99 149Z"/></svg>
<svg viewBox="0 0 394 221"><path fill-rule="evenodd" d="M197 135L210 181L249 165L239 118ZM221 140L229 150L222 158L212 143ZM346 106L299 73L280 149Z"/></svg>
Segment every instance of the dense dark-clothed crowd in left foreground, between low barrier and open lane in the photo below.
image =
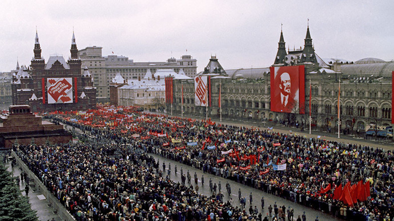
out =
<svg viewBox="0 0 394 221"><path fill-rule="evenodd" d="M153 157L126 145L20 145L14 151L77 221L262 220L163 178Z"/></svg>

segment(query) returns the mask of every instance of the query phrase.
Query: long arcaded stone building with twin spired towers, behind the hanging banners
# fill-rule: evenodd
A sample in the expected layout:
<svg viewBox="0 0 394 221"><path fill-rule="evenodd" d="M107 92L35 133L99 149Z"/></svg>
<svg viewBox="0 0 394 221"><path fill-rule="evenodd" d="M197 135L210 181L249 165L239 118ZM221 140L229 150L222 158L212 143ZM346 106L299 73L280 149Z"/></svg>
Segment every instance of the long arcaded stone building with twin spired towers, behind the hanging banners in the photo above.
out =
<svg viewBox="0 0 394 221"><path fill-rule="evenodd" d="M270 68L232 69L221 67L212 56L202 76L210 76L210 106L208 117L219 116L218 96L221 82L222 117L272 121L288 125L299 124L309 128L309 79L311 80L312 129L337 131L338 128L338 86L341 79L341 131L363 131L370 123L379 126L391 125L392 72L394 62L376 58L365 58L356 62L338 59L321 59L312 45L307 28L304 48L287 50L280 33L279 47L274 59L275 66L305 67L305 114L298 110L285 112L271 111ZM205 116L205 107L195 106L194 81L174 80L173 111L181 112L181 84L184 87L184 112ZM170 110L170 104L167 104Z"/></svg>

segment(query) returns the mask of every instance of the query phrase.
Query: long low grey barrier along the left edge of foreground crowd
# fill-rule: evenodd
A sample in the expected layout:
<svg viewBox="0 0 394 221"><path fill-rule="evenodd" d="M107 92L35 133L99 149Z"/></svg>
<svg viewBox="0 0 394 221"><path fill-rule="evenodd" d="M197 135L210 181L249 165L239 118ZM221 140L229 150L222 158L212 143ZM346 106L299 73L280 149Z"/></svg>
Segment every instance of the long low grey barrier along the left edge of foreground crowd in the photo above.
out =
<svg viewBox="0 0 394 221"><path fill-rule="evenodd" d="M52 207L53 210L59 215L59 217L64 221L75 221L74 217L67 211L67 209L60 203L60 201L51 194L43 183L38 179L37 176L27 167L26 164L15 154L14 151L11 151L11 155L15 157L16 162L22 168L23 171L27 173L27 177L32 178L35 189L40 191L42 195L45 196L47 205Z"/></svg>

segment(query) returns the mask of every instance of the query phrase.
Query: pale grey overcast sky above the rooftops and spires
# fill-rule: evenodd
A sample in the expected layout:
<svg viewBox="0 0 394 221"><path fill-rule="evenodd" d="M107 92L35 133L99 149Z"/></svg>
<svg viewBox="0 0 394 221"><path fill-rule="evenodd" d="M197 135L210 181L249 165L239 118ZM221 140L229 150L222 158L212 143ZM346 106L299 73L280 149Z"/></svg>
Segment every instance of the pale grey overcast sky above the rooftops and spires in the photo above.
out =
<svg viewBox="0 0 394 221"><path fill-rule="evenodd" d="M115 2L115 3L113 3ZM286 48L303 47L309 28L322 58L394 59L393 0L1 0L0 71L30 65L37 26L42 56L67 60L78 49L135 62L190 54L203 70L210 55L224 69L273 64L281 23ZM187 51L186 51L187 50Z"/></svg>

